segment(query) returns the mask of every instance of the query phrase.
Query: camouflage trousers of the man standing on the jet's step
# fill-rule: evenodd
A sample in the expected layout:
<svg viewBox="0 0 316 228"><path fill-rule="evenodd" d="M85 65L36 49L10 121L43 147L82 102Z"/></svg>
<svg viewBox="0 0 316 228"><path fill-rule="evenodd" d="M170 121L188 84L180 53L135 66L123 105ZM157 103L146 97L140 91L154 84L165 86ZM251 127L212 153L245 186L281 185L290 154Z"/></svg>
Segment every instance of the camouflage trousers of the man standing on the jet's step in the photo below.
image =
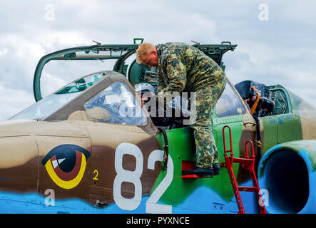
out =
<svg viewBox="0 0 316 228"><path fill-rule="evenodd" d="M195 90L195 102L191 100L190 128L194 130L196 165L202 168L218 163L218 149L212 133L211 115L222 95L226 81L223 75Z"/></svg>

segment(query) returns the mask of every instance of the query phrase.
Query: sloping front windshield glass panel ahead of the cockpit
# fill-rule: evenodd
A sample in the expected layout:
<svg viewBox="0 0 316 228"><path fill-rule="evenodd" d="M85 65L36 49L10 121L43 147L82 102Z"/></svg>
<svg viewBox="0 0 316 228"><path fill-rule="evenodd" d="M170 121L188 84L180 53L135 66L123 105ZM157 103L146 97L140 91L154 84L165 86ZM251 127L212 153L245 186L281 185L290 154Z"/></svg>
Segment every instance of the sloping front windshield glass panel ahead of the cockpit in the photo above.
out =
<svg viewBox="0 0 316 228"><path fill-rule="evenodd" d="M106 76L105 73L93 73L91 75L80 78L67 86L64 86L55 93L48 95L46 98L39 100L38 102L31 105L29 108L22 110L20 113L9 118L9 120L44 120L49 115L56 112L66 103L69 103L73 98L78 97L83 90L86 90L93 84L97 83Z"/></svg>

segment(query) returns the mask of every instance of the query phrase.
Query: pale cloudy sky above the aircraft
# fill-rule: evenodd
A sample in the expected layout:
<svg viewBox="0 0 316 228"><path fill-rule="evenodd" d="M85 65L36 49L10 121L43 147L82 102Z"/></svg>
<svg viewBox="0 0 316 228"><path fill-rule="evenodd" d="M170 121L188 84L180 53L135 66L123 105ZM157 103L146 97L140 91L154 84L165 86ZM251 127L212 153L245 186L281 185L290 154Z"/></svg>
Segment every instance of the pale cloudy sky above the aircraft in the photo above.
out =
<svg viewBox="0 0 316 228"><path fill-rule="evenodd" d="M316 106L312 0L0 0L0 4L0 120L35 102L33 77L41 56L90 46L93 40L133 43L135 37L155 44L193 44L192 40L238 44L223 57L230 81L280 84ZM45 80L51 91L69 82L57 73Z"/></svg>

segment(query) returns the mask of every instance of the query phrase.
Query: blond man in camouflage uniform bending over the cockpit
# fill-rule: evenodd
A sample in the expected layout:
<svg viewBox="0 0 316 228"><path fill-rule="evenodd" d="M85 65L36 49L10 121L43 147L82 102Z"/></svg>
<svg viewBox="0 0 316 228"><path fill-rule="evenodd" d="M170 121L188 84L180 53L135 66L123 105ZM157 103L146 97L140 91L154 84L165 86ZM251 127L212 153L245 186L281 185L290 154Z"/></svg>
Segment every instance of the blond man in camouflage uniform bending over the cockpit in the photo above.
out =
<svg viewBox="0 0 316 228"><path fill-rule="evenodd" d="M212 58L187 43L158 46L143 43L138 47L136 56L138 63L156 66L158 70L157 99L167 92L195 92L195 103L191 99L190 118L196 119L190 127L194 129L197 167L183 171L183 175L218 175L218 150L210 117L226 84L222 68Z"/></svg>

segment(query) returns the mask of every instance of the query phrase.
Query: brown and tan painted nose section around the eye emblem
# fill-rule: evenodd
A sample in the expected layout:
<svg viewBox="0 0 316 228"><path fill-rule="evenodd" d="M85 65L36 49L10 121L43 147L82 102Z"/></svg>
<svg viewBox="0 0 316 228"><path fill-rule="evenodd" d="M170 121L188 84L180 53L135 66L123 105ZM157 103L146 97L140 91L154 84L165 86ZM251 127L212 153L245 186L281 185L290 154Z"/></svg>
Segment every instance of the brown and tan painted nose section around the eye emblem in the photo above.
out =
<svg viewBox="0 0 316 228"><path fill-rule="evenodd" d="M0 173L1 177L6 179L1 180L1 191L5 192L38 193L44 196L45 190L52 189L55 191L56 199L76 198L91 205L96 204L98 199L104 204L112 204L116 170L111 164L114 164L118 144L129 142L137 145L143 152L145 161L148 160L151 151L160 148L154 136L135 126L109 124L104 128L104 125L88 119L65 120L58 123L36 120L7 122L5 127L1 128L4 131L0 133L1 156L4 157L1 159ZM69 144L86 148L91 152L91 156L86 162L82 180L75 187L66 189L53 182L41 161L54 147ZM144 165L147 166L146 162ZM123 168L135 169L133 157L123 158ZM143 194L150 193L158 172L159 169L149 170L142 175ZM129 197L133 194L132 187L128 186L128 183L126 186L122 186L122 195ZM44 204L44 201L34 197L34 203Z"/></svg>

